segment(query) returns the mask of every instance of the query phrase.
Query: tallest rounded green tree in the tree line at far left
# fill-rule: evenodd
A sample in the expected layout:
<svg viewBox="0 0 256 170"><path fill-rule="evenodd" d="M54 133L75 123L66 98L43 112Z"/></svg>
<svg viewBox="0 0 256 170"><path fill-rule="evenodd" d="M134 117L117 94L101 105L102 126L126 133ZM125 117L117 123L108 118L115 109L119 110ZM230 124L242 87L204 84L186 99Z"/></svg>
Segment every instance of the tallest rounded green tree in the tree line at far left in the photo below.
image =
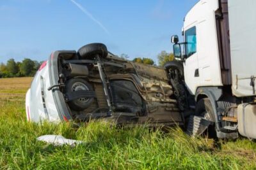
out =
<svg viewBox="0 0 256 170"><path fill-rule="evenodd" d="M33 76L36 72L35 62L31 59L24 59L20 64L20 73L24 76Z"/></svg>

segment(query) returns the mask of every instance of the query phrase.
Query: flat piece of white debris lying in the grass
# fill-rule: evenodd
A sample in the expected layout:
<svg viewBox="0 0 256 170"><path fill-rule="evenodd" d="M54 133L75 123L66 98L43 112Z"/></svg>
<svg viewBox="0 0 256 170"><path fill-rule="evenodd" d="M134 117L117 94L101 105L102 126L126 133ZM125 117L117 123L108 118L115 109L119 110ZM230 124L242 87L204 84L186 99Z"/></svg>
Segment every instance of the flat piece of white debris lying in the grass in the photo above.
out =
<svg viewBox="0 0 256 170"><path fill-rule="evenodd" d="M51 143L52 145L55 145L55 146L61 146L61 145L76 146L76 145L83 143L83 141L66 139L60 135L44 135L44 136L40 136L36 139L38 141L44 141L46 143Z"/></svg>

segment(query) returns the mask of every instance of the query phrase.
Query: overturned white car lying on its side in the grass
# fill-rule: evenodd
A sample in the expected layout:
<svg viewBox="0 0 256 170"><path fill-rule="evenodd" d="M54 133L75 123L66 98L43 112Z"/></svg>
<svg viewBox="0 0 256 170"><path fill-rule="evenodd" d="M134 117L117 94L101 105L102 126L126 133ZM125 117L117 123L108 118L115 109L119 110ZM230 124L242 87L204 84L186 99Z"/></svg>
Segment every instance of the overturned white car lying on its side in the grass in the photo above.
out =
<svg viewBox="0 0 256 170"><path fill-rule="evenodd" d="M31 83L26 110L33 122L184 125L165 69L121 59L100 43L52 53Z"/></svg>

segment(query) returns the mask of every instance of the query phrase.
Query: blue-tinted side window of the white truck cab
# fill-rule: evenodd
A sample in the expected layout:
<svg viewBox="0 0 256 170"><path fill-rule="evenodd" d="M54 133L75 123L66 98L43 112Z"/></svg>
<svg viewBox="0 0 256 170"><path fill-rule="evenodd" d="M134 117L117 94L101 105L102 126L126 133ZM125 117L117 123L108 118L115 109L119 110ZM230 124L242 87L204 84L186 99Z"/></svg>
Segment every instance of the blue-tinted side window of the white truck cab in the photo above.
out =
<svg viewBox="0 0 256 170"><path fill-rule="evenodd" d="M186 55L187 58L196 53L196 27L185 31Z"/></svg>

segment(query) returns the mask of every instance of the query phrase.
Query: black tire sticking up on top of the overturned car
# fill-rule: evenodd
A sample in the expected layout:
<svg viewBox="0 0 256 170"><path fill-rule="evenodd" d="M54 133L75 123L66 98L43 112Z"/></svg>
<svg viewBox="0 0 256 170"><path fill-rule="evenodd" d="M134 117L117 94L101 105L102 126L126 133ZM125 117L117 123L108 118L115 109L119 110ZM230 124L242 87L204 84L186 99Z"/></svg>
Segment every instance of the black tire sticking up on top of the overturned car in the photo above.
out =
<svg viewBox="0 0 256 170"><path fill-rule="evenodd" d="M102 43L92 43L82 46L77 51L77 54L80 59L94 59L97 54L101 58L106 58L108 56L108 49Z"/></svg>

